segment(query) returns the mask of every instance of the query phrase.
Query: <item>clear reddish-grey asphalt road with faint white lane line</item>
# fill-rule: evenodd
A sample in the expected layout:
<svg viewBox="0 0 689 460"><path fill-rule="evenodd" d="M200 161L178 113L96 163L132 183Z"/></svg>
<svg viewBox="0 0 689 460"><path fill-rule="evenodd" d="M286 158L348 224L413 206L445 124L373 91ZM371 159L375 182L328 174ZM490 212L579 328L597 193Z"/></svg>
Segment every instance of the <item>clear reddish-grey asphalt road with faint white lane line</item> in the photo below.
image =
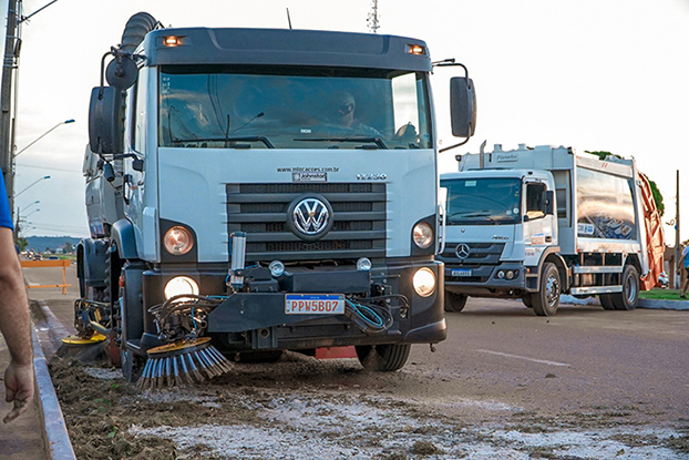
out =
<svg viewBox="0 0 689 460"><path fill-rule="evenodd" d="M68 268L73 287L66 296L59 288L29 292L70 331L74 273ZM30 284L62 277L60 268L24 269L24 276ZM449 338L435 352L412 348L394 381L398 396L479 401L476 419L514 410L544 417L597 410L655 426L689 422L689 311L563 305L557 316L543 318L521 301L470 298L464 311L446 319Z"/></svg>

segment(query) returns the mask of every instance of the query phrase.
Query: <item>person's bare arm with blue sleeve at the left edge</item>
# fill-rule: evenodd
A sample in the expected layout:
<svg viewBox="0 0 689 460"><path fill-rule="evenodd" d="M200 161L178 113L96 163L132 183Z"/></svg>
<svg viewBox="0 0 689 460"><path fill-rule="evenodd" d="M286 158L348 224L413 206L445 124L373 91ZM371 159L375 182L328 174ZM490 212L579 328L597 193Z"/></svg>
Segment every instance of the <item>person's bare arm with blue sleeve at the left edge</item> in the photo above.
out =
<svg viewBox="0 0 689 460"><path fill-rule="evenodd" d="M4 371L4 400L13 402L3 421L10 422L29 409L33 398L33 349L29 299L14 247L12 217L0 174L0 331L10 351Z"/></svg>

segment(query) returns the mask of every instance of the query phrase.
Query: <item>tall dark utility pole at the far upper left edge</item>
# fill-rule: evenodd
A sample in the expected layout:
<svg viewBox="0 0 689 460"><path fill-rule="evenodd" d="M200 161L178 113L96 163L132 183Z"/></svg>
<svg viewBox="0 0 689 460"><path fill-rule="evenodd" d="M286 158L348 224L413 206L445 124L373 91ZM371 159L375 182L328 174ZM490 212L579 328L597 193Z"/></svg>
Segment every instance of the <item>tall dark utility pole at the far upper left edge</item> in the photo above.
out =
<svg viewBox="0 0 689 460"><path fill-rule="evenodd" d="M4 37L4 59L2 60L2 81L0 82L0 165L7 186L10 213L14 214L14 162L12 161L12 76L16 69L18 43L17 14L21 0L8 0L7 31Z"/></svg>

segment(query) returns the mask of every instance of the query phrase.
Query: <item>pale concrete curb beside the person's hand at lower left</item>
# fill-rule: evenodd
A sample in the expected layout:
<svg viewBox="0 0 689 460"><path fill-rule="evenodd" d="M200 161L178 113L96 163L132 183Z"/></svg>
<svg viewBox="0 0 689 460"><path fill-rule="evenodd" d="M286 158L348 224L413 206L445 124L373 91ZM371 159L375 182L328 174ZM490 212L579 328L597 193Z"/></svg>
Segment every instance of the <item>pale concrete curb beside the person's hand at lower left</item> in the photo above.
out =
<svg viewBox="0 0 689 460"><path fill-rule="evenodd" d="M41 309L48 309L45 303L39 301L41 305ZM50 309L48 309L50 311ZM50 311L52 315L52 311ZM52 325L52 320L56 320L54 315L52 315L52 320L48 317L48 320ZM59 327L64 329L62 324L59 324ZM41 421L43 423L44 432L44 441L45 441L45 453L49 459L53 460L76 460L74 456L74 449L72 449L72 442L70 441L70 437L66 431L66 425L64 423L64 418L62 417L62 409L60 409L60 402L58 401L58 395L55 393L55 388L53 387L52 380L50 378L50 372L48 370L48 361L45 360L45 355L43 354L43 348L41 348L41 340L34 330L32 330L32 339L33 339L33 369L35 372L35 387L37 387L37 400L39 403L39 416L41 417ZM54 346L54 344L50 344Z"/></svg>

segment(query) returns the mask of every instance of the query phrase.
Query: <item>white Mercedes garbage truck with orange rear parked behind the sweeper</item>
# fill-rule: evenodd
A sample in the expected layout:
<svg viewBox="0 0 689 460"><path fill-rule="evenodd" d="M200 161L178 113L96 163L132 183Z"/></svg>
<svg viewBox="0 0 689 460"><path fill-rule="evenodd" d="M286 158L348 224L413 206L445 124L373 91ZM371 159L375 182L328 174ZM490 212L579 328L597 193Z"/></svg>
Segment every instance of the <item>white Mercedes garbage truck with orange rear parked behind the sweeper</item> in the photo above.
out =
<svg viewBox="0 0 689 460"><path fill-rule="evenodd" d="M658 282L662 225L634 159L522 144L456 160L440 181L445 310L470 296L517 298L552 316L562 294L630 310Z"/></svg>

